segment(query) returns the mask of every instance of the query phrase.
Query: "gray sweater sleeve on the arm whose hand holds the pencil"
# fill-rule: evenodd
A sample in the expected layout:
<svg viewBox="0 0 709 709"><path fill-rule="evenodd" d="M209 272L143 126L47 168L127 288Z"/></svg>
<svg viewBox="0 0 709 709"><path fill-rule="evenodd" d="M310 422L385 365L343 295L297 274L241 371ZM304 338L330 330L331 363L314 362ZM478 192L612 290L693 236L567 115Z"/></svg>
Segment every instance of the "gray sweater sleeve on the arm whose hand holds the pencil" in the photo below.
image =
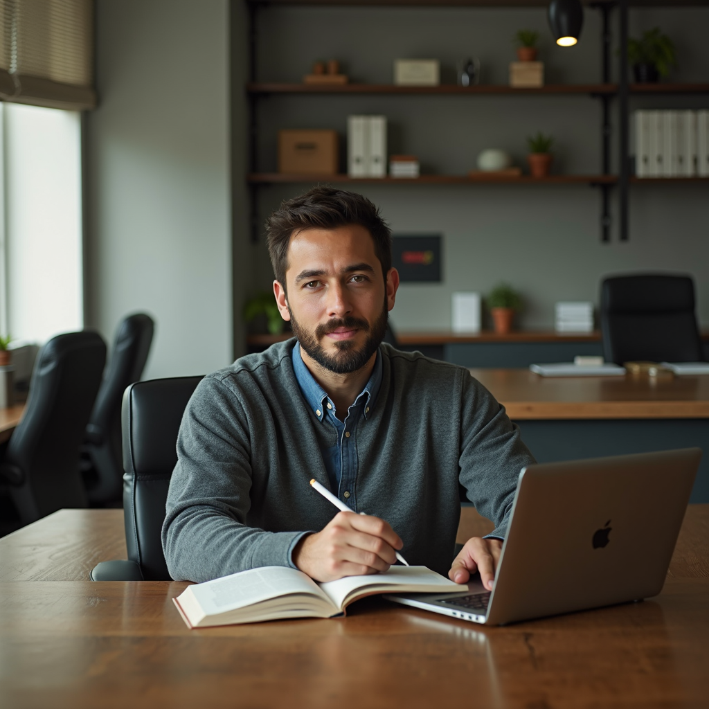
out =
<svg viewBox="0 0 709 709"><path fill-rule="evenodd" d="M246 524L250 509L250 428L238 396L205 377L177 437L162 549L173 579L208 581L257 566L293 566L305 532L267 532Z"/></svg>

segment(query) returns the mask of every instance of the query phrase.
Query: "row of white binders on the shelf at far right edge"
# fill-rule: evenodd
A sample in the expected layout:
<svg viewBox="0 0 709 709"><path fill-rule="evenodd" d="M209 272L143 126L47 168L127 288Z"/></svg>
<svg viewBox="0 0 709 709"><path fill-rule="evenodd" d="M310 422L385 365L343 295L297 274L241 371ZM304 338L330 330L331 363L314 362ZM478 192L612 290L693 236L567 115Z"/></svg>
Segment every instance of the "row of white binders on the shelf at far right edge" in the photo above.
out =
<svg viewBox="0 0 709 709"><path fill-rule="evenodd" d="M637 177L709 177L709 111L635 111Z"/></svg>

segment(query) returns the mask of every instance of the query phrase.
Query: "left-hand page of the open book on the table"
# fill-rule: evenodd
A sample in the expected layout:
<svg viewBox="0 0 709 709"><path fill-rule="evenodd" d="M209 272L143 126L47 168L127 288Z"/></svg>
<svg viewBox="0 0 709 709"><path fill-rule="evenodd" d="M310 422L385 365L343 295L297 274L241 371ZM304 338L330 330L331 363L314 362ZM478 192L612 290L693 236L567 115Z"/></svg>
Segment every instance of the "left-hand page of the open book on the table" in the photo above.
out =
<svg viewBox="0 0 709 709"><path fill-rule="evenodd" d="M325 600L328 598L303 571L288 566L261 566L240 571L238 574L190 586L189 590L206 615L225 613L291 593L309 593Z"/></svg>

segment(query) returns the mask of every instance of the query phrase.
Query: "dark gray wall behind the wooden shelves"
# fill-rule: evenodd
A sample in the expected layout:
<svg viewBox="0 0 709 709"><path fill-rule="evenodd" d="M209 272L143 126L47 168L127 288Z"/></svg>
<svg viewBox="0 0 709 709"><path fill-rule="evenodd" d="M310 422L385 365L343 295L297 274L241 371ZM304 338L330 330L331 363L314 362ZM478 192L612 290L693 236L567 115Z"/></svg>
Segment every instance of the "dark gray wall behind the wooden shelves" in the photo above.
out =
<svg viewBox="0 0 709 709"><path fill-rule="evenodd" d="M480 57L486 83L506 83L510 38L520 28L542 36L547 82L600 81L600 21L586 11L579 45L557 48L544 9L282 8L262 11L259 79L298 82L318 58L338 58L356 81L390 83L396 57L438 57L445 81L457 61ZM708 8L633 10L631 35L654 26L676 43L676 81L707 81ZM614 40L614 50L617 40ZM615 62L615 55L614 55ZM708 108L708 96L634 98L631 108ZM556 138L555 171L598 173L600 103L587 96L270 96L259 100L259 169L276 168L279 128L336 128L349 113L385 113L389 152L413 152L428 172L464 174L485 147L503 147L523 164L525 136ZM617 124L617 121L616 121ZM344 154L342 170L345 169ZM264 216L302 185L261 190ZM359 189L359 188L358 188ZM630 242L600 242L600 195L589 186L362 186L395 233L441 233L443 282L403 285L391 313L399 330L450 328L454 291L485 293L504 279L525 297L521 324L549 328L554 302L597 301L605 274L663 269L693 274L698 315L709 325L707 185L633 186ZM616 211L614 209L614 211ZM264 245L257 284L272 279Z"/></svg>

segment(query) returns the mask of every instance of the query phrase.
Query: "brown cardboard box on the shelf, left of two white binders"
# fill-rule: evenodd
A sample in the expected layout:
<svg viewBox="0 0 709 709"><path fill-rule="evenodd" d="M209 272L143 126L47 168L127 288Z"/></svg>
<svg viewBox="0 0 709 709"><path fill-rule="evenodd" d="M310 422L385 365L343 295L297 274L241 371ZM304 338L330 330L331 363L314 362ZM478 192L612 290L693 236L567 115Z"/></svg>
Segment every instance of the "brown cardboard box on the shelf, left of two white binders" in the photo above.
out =
<svg viewBox="0 0 709 709"><path fill-rule="evenodd" d="M279 130L278 172L337 174L336 130Z"/></svg>

